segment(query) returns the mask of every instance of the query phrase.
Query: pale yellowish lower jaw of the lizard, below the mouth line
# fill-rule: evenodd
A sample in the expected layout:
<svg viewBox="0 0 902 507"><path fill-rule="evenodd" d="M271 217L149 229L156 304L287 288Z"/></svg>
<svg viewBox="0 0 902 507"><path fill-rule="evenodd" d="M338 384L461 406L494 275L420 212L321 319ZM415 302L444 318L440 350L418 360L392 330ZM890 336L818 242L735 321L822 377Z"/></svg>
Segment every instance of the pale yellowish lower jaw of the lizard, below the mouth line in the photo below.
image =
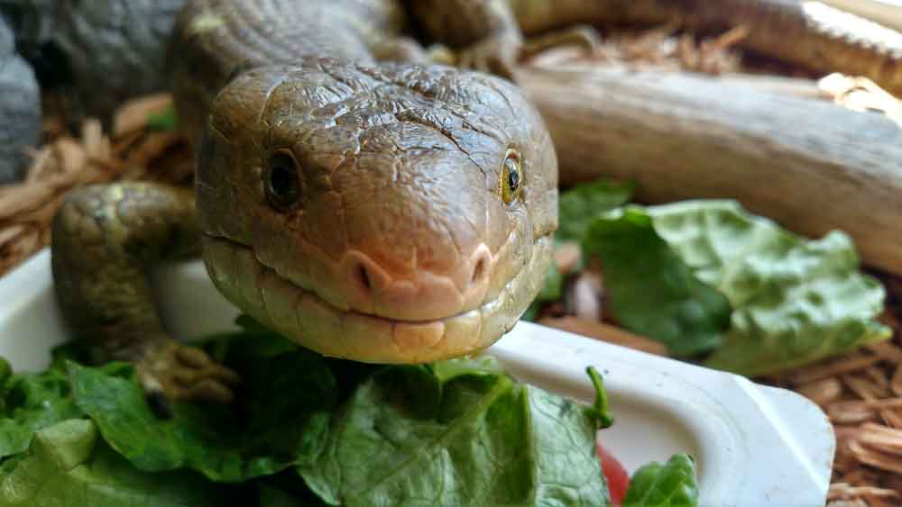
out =
<svg viewBox="0 0 902 507"><path fill-rule="evenodd" d="M490 301L447 317L411 321L344 310L263 264L253 248L204 235L207 272L226 299L299 345L369 363L424 363L484 349L510 330L538 294L551 235L534 241L525 265Z"/></svg>

